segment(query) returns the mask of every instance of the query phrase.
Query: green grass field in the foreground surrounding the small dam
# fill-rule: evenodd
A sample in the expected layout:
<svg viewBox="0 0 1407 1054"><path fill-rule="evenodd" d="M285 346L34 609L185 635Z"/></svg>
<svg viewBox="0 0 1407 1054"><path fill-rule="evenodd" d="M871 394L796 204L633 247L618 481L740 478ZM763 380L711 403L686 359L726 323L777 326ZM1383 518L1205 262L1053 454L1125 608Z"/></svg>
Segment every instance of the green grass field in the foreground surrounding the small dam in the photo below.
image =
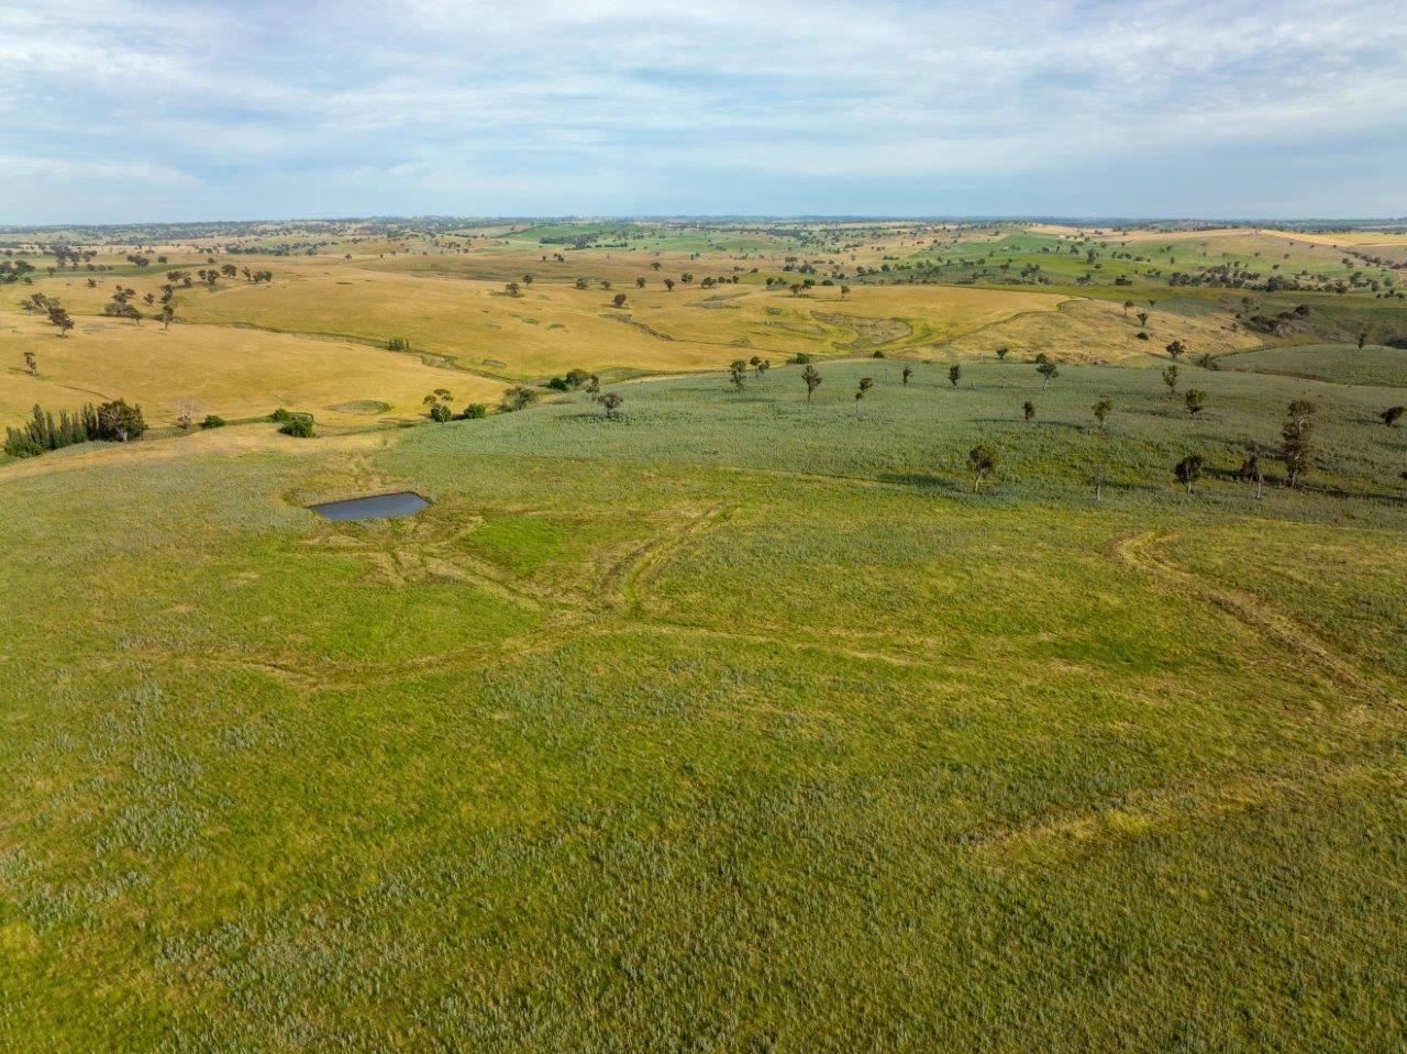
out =
<svg viewBox="0 0 1407 1054"><path fill-rule="evenodd" d="M900 369L0 467L0 1048L1400 1046L1400 390Z"/></svg>

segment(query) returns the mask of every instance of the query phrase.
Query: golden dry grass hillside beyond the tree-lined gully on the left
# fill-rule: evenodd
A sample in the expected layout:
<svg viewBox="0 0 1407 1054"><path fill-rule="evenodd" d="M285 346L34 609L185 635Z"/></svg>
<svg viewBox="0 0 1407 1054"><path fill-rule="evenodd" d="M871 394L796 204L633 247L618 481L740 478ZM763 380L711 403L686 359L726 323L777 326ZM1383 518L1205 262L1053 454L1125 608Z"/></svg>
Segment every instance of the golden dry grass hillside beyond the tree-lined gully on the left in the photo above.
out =
<svg viewBox="0 0 1407 1054"><path fill-rule="evenodd" d="M646 288L620 280L580 290L563 277L522 284L519 296L509 296L501 281L449 277L457 266L481 269L480 256L295 258L273 262L276 279L267 284L235 279L177 288L169 331L151 318L135 324L101 312L115 288L135 290L141 305L145 296L160 296L167 269L196 269L174 252L148 273L41 276L32 286L0 290L0 412L18 419L35 402L62 408L122 395L142 402L153 422L194 400L224 417L288 405L328 424L366 424L418 412L433 388L449 388L456 404L491 402L505 383L546 380L571 367L622 376L719 369L753 355L778 362L878 348L931 355L954 336L1051 312L1064 300L953 287L871 287L848 298L837 287L817 287L796 297L758 284L701 288L698 281L671 293L650 269L654 259L636 255L605 260L606 267L592 259L577 267L639 274ZM699 279L722 270L695 267ZM35 291L73 315L68 338L18 310ZM623 307L612 304L616 293L626 296ZM409 341L415 353L384 350L393 336ZM24 370L25 352L38 356L38 376ZM390 409L332 409L353 402Z"/></svg>

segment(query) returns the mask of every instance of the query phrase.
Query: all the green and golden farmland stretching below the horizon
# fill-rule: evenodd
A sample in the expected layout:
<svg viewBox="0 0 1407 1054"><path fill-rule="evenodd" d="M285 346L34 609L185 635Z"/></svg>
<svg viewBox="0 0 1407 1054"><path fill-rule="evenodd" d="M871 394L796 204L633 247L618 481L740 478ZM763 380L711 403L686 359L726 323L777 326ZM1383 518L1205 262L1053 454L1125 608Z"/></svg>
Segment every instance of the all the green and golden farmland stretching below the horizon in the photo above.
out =
<svg viewBox="0 0 1407 1054"><path fill-rule="evenodd" d="M0 462L0 1050L1394 1050L1407 310L1294 235L7 235L6 424L152 432Z"/></svg>

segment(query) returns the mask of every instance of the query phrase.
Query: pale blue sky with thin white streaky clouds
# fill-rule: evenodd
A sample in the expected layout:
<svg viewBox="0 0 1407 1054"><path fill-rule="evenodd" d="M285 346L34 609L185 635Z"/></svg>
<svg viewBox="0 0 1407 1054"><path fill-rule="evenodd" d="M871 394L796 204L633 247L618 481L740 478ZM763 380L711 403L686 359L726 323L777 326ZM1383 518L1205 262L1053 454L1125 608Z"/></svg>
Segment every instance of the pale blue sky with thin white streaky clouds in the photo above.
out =
<svg viewBox="0 0 1407 1054"><path fill-rule="evenodd" d="M0 224L1407 214L1390 0L0 0Z"/></svg>

